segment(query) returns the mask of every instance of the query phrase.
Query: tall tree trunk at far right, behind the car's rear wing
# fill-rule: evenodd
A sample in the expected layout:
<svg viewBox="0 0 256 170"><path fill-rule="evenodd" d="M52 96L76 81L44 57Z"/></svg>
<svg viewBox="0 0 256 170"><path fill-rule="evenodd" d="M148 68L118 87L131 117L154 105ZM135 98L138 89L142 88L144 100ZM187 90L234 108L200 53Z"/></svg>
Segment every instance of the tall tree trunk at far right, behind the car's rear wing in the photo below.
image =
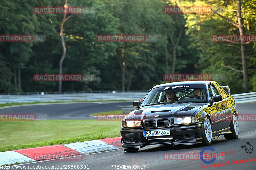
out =
<svg viewBox="0 0 256 170"><path fill-rule="evenodd" d="M241 0L237 0L237 18L238 18L238 28L240 36L244 35L244 28L243 28L243 18L241 16ZM242 67L243 67L243 80L244 80L244 91L248 92L248 71L247 71L247 64L246 64L246 53L245 53L245 45L243 42L240 43L241 45L241 57L242 57Z"/></svg>

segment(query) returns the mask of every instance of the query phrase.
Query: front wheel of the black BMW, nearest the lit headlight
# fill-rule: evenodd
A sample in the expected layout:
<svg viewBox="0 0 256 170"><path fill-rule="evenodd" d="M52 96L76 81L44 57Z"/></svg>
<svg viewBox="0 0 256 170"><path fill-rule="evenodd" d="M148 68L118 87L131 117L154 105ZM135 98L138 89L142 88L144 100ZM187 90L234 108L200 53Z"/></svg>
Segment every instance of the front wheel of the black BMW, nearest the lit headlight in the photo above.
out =
<svg viewBox="0 0 256 170"><path fill-rule="evenodd" d="M212 143L212 126L209 117L205 116L203 121L202 145L209 146Z"/></svg>

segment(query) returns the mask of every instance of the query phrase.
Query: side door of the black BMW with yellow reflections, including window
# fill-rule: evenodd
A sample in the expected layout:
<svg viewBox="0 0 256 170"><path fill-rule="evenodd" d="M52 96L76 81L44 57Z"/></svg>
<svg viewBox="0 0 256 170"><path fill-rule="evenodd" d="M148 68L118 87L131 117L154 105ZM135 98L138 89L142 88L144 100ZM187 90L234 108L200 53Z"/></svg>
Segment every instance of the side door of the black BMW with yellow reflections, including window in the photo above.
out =
<svg viewBox="0 0 256 170"><path fill-rule="evenodd" d="M208 90L209 90L210 97L220 95L213 83L208 85ZM226 128L227 121L225 121L225 116L227 114L226 113L227 110L226 110L225 99L224 100L222 99L219 102L213 102L212 108L214 110L214 117L213 117L212 123L215 123L215 131L219 131L221 129Z"/></svg>

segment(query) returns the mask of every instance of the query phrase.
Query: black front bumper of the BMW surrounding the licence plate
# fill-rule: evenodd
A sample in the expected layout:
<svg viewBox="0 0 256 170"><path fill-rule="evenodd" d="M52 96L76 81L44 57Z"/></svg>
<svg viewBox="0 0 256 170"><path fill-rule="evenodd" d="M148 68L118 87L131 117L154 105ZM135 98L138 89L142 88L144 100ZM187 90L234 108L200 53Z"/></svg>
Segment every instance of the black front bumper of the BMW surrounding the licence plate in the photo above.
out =
<svg viewBox="0 0 256 170"><path fill-rule="evenodd" d="M166 136L144 137L143 131L170 129ZM168 128L122 128L121 142L123 148L141 148L148 145L191 145L202 143L203 124L179 125Z"/></svg>

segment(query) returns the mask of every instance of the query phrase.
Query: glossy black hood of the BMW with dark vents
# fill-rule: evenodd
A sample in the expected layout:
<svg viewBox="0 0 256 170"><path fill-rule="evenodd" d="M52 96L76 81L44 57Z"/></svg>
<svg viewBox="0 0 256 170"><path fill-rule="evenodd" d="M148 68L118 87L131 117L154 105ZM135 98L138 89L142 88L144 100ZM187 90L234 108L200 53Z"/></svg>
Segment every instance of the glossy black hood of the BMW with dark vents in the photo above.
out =
<svg viewBox="0 0 256 170"><path fill-rule="evenodd" d="M132 111L124 120L148 120L174 117L191 117L207 103L164 103L144 106Z"/></svg>

